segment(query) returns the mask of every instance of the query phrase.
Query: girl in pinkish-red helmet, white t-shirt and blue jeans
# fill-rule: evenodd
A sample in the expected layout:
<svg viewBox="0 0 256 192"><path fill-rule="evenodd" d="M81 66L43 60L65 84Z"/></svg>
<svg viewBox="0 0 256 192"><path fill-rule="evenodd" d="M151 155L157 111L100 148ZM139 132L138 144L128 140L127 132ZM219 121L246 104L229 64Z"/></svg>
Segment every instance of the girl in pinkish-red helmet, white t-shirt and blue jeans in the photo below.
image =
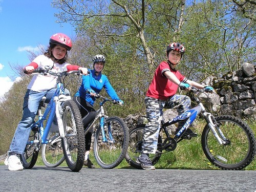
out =
<svg viewBox="0 0 256 192"><path fill-rule="evenodd" d="M55 72L61 72L62 68L67 68L68 71L81 70L84 75L87 75L87 68L74 66L66 62L68 51L72 48L72 41L67 35L56 33L50 37L49 44L48 50L44 55L37 56L25 67L27 74L31 74L36 68L50 66L51 70ZM17 126L8 151L8 157L5 160L5 164L8 165L9 170L23 169L18 154L24 153L31 130L30 126L36 116L40 100L46 96L46 102L49 103L55 93L56 85L57 78L52 75L36 74L30 81L24 97L23 118ZM65 89L65 94L69 95L69 90Z"/></svg>

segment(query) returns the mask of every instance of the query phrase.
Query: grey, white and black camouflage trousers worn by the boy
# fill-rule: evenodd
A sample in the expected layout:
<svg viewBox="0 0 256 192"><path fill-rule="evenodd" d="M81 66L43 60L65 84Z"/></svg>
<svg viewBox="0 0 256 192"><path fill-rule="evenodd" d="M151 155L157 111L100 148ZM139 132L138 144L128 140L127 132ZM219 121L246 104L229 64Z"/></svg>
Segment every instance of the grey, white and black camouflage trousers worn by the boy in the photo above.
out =
<svg viewBox="0 0 256 192"><path fill-rule="evenodd" d="M177 109L177 112L180 115L191 108L191 101L190 98L185 95L174 95L168 100L145 97L145 105L148 123L146 124L143 133L142 153L155 154L163 109ZM184 123L185 122L180 121L178 127L182 127Z"/></svg>

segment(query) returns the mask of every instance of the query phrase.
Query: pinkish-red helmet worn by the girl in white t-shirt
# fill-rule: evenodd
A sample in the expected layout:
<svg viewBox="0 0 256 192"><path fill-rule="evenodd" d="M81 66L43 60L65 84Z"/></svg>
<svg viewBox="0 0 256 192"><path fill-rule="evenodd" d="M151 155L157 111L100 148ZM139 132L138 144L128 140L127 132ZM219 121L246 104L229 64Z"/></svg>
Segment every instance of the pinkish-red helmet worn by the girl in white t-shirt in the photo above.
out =
<svg viewBox="0 0 256 192"><path fill-rule="evenodd" d="M67 50L71 50L72 48L72 41L69 38L69 36L63 34L63 33L56 33L51 36L49 44L55 44L60 45L62 47L65 47Z"/></svg>

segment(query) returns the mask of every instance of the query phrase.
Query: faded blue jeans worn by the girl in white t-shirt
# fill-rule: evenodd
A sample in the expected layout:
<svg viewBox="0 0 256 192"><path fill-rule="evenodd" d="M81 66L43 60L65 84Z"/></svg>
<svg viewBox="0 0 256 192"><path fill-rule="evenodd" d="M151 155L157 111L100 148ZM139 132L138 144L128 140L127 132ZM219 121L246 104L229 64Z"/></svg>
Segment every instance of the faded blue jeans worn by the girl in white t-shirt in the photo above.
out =
<svg viewBox="0 0 256 192"><path fill-rule="evenodd" d="M46 96L45 102L49 103L55 91L56 89L42 92L27 90L23 103L23 118L18 123L8 153L24 153L30 135L31 125L35 119L39 102L42 97ZM69 90L65 89L65 95L69 94Z"/></svg>

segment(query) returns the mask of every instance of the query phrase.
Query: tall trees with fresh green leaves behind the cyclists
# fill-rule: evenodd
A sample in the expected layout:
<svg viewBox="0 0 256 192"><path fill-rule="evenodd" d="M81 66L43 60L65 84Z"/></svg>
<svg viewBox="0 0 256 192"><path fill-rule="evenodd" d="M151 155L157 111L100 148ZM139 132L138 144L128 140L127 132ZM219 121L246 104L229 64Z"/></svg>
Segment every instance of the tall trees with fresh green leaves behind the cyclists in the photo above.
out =
<svg viewBox="0 0 256 192"><path fill-rule="evenodd" d="M53 6L60 10L59 21L70 22L79 36L73 62L83 60L91 67L90 57L106 56L103 73L125 102L123 112L114 108L118 114L144 111L145 92L169 42L184 44L186 53L178 69L195 81L220 77L255 58L255 24L228 0L65 0L54 1Z"/></svg>

